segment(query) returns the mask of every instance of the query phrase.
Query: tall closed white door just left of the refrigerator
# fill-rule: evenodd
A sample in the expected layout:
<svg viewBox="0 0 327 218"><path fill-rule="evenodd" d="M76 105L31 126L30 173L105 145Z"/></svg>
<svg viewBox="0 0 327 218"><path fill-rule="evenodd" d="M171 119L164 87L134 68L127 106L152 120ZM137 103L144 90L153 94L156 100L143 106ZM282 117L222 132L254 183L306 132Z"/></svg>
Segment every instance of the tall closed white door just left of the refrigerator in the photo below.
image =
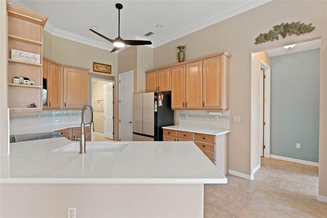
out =
<svg viewBox="0 0 327 218"><path fill-rule="evenodd" d="M119 75L119 139L133 140L133 71Z"/></svg>

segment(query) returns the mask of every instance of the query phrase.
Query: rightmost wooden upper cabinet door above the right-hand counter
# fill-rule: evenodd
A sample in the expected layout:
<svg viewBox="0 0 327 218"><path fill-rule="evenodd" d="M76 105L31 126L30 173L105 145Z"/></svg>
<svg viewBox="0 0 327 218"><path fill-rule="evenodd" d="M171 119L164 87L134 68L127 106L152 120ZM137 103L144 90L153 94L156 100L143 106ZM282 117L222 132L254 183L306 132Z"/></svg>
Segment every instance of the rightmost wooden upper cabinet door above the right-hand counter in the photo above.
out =
<svg viewBox="0 0 327 218"><path fill-rule="evenodd" d="M203 60L203 108L223 108L222 56Z"/></svg>

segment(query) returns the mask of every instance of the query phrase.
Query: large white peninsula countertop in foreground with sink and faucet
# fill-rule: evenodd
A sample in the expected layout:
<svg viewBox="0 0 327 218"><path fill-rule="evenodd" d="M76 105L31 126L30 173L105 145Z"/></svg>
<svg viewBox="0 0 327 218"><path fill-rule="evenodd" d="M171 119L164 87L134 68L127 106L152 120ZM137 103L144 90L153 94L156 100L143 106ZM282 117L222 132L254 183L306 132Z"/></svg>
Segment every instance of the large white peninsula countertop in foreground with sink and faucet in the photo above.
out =
<svg viewBox="0 0 327 218"><path fill-rule="evenodd" d="M122 151L54 152L65 138L11 143L0 183L219 184L226 177L193 142L129 142ZM110 143L110 142L108 142Z"/></svg>

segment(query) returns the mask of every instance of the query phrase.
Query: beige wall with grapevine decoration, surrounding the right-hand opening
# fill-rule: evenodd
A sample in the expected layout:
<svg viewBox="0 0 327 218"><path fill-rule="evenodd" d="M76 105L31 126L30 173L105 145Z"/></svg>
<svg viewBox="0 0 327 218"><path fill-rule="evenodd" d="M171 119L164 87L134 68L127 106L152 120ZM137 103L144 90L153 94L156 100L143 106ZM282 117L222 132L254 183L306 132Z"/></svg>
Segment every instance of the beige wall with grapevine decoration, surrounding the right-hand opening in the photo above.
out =
<svg viewBox="0 0 327 218"><path fill-rule="evenodd" d="M321 38L321 60L327 59L326 1L272 1L258 8L226 19L195 33L154 49L154 68L177 62L175 47L187 45L185 60L226 51L230 59L230 117L241 116L241 123L230 123L229 168L251 174L251 52ZM292 10L290 10L290 8ZM310 8L310 10L308 10ZM276 16L276 14L279 14ZM283 16L281 16L283 15ZM260 45L254 39L283 22L313 23L311 33L292 35ZM320 107L326 105L326 61L320 61ZM319 194L327 196L327 110L320 111ZM232 120L232 119L231 119Z"/></svg>

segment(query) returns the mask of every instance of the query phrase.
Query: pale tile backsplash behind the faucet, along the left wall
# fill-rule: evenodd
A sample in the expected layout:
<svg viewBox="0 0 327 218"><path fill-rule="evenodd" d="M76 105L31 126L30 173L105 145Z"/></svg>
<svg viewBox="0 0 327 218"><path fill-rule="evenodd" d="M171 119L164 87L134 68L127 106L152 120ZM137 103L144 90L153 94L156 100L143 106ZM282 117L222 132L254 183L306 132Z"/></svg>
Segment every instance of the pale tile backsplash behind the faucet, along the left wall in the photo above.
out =
<svg viewBox="0 0 327 218"><path fill-rule="evenodd" d="M40 113L10 114L10 135L53 132L80 126L81 110L54 110Z"/></svg>

